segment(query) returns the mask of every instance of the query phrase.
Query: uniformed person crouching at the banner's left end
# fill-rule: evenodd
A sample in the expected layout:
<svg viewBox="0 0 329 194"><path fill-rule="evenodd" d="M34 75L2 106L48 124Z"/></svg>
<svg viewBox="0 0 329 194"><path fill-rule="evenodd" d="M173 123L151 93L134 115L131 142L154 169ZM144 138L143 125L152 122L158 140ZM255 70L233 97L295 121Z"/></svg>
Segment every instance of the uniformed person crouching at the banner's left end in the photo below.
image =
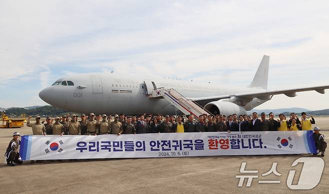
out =
<svg viewBox="0 0 329 194"><path fill-rule="evenodd" d="M16 166L15 163L19 165L23 164L23 161L21 160L18 153L18 147L20 145L19 137L20 135L18 132L12 134L12 140L9 142L7 150L4 154L7 165L11 167Z"/></svg>

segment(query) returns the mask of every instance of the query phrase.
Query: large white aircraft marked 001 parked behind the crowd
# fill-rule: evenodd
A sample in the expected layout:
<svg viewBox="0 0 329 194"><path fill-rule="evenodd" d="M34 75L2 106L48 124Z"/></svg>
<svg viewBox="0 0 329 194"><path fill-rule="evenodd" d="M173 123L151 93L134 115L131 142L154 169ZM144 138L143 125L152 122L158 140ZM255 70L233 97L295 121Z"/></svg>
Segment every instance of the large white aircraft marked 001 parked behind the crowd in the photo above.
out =
<svg viewBox="0 0 329 194"><path fill-rule="evenodd" d="M329 85L267 90L269 56L264 55L247 87L201 84L192 81L151 78L143 75L87 73L65 76L44 88L39 97L55 107L79 113L245 114L273 95L296 96L315 90L324 94ZM179 112L180 111L180 112Z"/></svg>

